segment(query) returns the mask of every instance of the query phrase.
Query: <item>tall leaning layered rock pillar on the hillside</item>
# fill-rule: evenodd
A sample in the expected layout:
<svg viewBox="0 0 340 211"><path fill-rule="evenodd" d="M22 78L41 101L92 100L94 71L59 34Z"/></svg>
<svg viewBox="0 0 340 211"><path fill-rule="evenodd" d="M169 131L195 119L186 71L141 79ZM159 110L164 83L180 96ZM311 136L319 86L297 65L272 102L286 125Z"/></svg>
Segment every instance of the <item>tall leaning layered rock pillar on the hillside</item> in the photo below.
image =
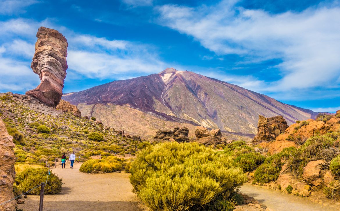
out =
<svg viewBox="0 0 340 211"><path fill-rule="evenodd" d="M56 107L63 95L66 78L67 40L57 30L40 27L31 68L41 80L38 87L27 91L41 102Z"/></svg>

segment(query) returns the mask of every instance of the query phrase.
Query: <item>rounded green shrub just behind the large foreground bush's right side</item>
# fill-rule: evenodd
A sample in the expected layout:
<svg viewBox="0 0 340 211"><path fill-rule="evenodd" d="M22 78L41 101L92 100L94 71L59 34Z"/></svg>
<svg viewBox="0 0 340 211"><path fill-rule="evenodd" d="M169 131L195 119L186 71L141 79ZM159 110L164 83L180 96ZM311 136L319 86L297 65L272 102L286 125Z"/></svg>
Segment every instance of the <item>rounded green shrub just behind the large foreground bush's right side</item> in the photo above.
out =
<svg viewBox="0 0 340 211"><path fill-rule="evenodd" d="M241 167L244 172L251 172L257 168L265 160L265 156L262 156L258 152L251 152L238 156L235 159L235 165Z"/></svg>

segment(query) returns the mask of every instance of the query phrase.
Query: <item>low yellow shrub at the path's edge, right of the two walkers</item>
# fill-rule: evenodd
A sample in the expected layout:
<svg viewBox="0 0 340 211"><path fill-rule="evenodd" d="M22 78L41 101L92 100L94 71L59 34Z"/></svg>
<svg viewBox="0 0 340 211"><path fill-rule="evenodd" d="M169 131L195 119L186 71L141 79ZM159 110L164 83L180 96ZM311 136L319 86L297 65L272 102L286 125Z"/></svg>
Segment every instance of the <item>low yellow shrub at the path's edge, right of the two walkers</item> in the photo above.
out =
<svg viewBox="0 0 340 211"><path fill-rule="evenodd" d="M84 173L109 173L122 170L122 159L116 156L108 156L100 160L88 160L80 166L79 171Z"/></svg>

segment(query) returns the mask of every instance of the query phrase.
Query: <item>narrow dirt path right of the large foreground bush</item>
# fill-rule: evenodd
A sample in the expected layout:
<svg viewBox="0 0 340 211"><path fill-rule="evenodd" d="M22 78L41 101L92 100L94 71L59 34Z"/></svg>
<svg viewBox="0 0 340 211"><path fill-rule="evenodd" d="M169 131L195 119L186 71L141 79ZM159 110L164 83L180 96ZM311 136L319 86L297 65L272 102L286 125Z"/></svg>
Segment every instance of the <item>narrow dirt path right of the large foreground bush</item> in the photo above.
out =
<svg viewBox="0 0 340 211"><path fill-rule="evenodd" d="M293 195L283 194L273 190L267 190L250 184L244 184L240 192L248 196L254 197L261 204L265 204L268 208L275 211L334 211L340 208L324 206L312 202L306 198Z"/></svg>

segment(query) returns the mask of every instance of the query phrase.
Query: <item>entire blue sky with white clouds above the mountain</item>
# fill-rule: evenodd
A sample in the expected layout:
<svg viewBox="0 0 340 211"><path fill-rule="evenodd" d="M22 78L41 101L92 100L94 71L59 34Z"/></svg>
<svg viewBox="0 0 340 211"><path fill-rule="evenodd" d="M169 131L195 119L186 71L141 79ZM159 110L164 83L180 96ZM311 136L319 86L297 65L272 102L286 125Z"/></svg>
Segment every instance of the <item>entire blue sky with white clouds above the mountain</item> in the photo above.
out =
<svg viewBox="0 0 340 211"><path fill-rule="evenodd" d="M69 43L64 93L189 70L314 111L340 109L340 2L0 0L0 92L39 84L35 34Z"/></svg>

